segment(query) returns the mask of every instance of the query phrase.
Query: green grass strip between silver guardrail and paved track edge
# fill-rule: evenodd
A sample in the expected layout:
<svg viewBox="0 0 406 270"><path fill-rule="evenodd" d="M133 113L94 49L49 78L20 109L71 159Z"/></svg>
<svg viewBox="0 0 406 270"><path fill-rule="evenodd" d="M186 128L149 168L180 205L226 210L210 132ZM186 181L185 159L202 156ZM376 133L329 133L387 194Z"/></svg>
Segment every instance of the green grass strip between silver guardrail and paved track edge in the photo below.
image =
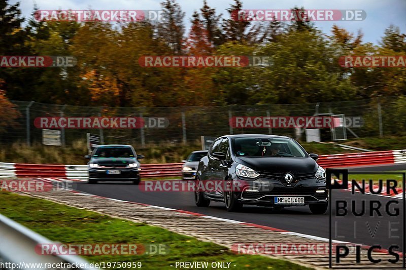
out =
<svg viewBox="0 0 406 270"><path fill-rule="evenodd" d="M55 242L165 245L166 254L84 256L89 262L141 261L145 269L174 269L170 265L176 261L225 261L234 269L309 269L285 260L234 254L225 247L159 227L11 192L0 191L0 213Z"/></svg>

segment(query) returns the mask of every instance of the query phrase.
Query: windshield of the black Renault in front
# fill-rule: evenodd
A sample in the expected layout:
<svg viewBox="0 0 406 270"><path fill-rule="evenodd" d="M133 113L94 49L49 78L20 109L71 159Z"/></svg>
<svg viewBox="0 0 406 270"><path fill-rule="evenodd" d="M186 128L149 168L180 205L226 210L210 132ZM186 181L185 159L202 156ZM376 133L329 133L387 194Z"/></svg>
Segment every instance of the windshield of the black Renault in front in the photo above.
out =
<svg viewBox="0 0 406 270"><path fill-rule="evenodd" d="M238 157L306 157L297 143L285 138L233 138L233 151Z"/></svg>

